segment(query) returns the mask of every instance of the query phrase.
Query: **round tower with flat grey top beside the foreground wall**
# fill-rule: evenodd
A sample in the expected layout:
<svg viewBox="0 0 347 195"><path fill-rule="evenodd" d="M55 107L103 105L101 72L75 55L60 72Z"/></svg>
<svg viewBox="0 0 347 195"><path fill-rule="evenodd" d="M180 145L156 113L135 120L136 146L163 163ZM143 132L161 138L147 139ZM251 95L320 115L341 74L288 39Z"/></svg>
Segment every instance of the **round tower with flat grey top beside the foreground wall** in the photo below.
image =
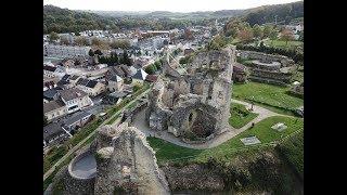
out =
<svg viewBox="0 0 347 195"><path fill-rule="evenodd" d="M94 155L87 151L76 156L68 165L68 172L75 179L86 180L95 178L97 160Z"/></svg>

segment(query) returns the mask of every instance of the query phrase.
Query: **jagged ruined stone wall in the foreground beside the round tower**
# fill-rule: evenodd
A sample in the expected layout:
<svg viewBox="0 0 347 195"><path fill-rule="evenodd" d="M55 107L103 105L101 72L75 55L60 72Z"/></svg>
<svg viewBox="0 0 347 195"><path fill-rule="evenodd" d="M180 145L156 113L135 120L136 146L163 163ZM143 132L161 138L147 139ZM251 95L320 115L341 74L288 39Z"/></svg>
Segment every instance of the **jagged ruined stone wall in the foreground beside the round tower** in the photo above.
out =
<svg viewBox="0 0 347 195"><path fill-rule="evenodd" d="M156 164L154 151L145 135L121 123L113 145L98 151L97 194L169 194L165 177Z"/></svg>

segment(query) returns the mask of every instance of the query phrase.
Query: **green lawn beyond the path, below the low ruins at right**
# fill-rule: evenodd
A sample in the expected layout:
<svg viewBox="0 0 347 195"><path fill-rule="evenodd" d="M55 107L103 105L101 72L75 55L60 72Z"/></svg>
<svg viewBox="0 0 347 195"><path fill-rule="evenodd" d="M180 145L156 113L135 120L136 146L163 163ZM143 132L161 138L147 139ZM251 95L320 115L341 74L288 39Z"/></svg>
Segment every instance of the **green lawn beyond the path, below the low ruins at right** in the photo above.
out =
<svg viewBox="0 0 347 195"><path fill-rule="evenodd" d="M304 100L287 94L286 92L288 90L288 87L260 82L234 83L232 96L247 102L254 100L255 103L260 106L280 114L288 115L292 113L291 109L295 109L304 105Z"/></svg>

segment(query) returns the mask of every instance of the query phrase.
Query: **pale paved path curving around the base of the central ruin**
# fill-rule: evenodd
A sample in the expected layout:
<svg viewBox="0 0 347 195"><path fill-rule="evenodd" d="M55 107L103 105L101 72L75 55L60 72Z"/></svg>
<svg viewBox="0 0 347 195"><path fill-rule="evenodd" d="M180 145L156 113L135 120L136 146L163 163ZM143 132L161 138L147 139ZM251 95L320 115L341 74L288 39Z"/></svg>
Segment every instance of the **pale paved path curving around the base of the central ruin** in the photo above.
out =
<svg viewBox="0 0 347 195"><path fill-rule="evenodd" d="M246 106L246 108L250 108L250 106L252 106L249 103L242 102L239 100L232 99L231 102L243 104ZM264 120L265 118L272 117L272 116L287 116L287 115L281 115L281 114L273 113L269 109L266 109L266 108L257 106L257 105L254 105L253 109L254 109L253 110L254 113L257 113L259 115L255 119L250 120L247 125L245 125L244 127L242 127L240 129L235 129L235 128L230 127L229 131L226 131L219 135L216 135L214 139L211 139L205 143L202 143L202 144L188 144L188 143L181 141L181 139L176 138L174 134L168 133L167 131L158 132L158 131L151 130L144 120L145 119L145 116L144 116L145 109L138 114L138 116L136 117L136 119L131 123L131 126L138 128L140 131L145 133L146 136L151 135L151 136L160 138L163 140L166 140L170 143L174 143L176 145L180 145L183 147L195 148L195 150L205 150L205 148L216 147L216 146L227 142L231 138L233 138L233 136L237 135L239 133L248 129L253 122L257 123L257 122Z"/></svg>

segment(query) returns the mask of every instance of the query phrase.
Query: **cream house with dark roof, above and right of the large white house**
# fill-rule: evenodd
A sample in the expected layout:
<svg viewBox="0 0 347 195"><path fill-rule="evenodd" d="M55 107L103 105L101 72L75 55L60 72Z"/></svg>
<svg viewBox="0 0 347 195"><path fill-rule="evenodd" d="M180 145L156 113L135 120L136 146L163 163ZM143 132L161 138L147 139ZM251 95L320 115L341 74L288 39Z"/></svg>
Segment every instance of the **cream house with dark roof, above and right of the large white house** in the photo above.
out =
<svg viewBox="0 0 347 195"><path fill-rule="evenodd" d="M106 90L104 83L87 78L79 78L76 82L76 88L82 90L90 96L97 96Z"/></svg>

